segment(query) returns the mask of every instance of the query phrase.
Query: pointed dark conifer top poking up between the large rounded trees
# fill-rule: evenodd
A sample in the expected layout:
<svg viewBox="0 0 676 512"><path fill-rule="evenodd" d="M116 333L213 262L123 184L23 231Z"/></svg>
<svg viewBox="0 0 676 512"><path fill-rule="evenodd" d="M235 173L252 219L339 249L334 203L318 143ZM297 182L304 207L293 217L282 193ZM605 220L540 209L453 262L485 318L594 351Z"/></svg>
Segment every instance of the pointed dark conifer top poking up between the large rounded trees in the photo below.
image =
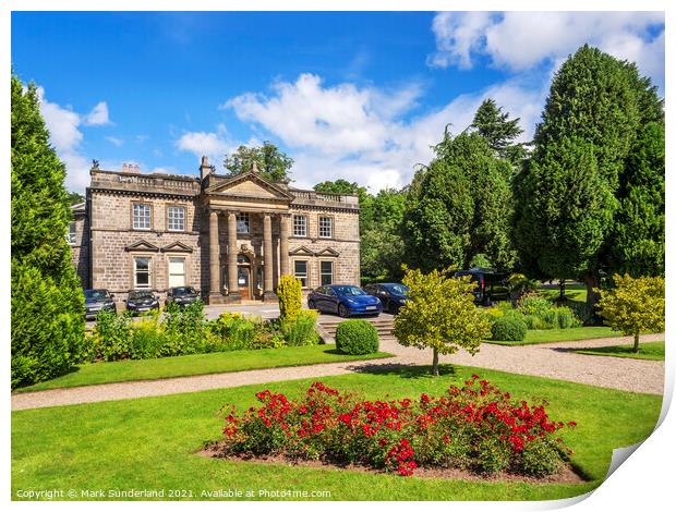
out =
<svg viewBox="0 0 676 512"><path fill-rule="evenodd" d="M519 118L509 119L509 112L503 111L503 107L498 107L493 98L481 103L471 127L486 139L498 157L518 163L526 156L523 146L515 144L523 133Z"/></svg>

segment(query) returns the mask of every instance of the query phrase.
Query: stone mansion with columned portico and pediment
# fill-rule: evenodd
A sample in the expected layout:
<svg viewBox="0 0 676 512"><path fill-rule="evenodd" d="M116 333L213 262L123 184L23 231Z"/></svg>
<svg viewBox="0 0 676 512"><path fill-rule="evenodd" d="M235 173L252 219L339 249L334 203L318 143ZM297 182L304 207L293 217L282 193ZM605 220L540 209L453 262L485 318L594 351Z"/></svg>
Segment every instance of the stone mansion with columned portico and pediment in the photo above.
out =
<svg viewBox="0 0 676 512"><path fill-rule="evenodd" d="M69 232L84 288L122 300L130 290L165 296L190 285L209 304L276 300L279 276L303 290L360 284L359 200L265 180L217 174L206 157L200 178L95 162L86 200Z"/></svg>

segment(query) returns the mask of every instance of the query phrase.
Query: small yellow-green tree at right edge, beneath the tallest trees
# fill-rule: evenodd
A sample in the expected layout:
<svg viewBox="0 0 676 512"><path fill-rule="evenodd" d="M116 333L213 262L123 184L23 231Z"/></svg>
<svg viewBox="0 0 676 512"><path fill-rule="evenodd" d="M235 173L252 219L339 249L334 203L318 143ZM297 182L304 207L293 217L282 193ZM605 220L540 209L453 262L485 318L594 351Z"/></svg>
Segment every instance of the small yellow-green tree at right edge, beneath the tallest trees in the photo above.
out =
<svg viewBox="0 0 676 512"><path fill-rule="evenodd" d="M602 292L599 312L613 330L633 336L633 352L645 331L664 329L664 278L613 277L615 288Z"/></svg>

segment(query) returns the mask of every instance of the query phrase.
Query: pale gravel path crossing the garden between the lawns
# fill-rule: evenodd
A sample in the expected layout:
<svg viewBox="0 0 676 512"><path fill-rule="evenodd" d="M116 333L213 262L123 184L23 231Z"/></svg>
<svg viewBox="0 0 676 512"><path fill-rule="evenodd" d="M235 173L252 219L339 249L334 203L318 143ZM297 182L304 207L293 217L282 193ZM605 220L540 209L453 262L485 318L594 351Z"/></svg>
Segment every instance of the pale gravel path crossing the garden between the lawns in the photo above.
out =
<svg viewBox="0 0 676 512"><path fill-rule="evenodd" d="M664 334L650 334L643 337L642 341L663 339ZM628 344L631 341L631 338L604 338L526 346L502 346L486 343L474 356L460 351L450 356L440 356L440 362L572 380L625 391L662 394L664 388L664 362L662 361L593 356L570 352L570 349ZM381 350L394 353L397 357L16 393L12 395L12 411L345 375L377 367L428 365L432 361L431 351L403 348L389 337L382 339Z"/></svg>

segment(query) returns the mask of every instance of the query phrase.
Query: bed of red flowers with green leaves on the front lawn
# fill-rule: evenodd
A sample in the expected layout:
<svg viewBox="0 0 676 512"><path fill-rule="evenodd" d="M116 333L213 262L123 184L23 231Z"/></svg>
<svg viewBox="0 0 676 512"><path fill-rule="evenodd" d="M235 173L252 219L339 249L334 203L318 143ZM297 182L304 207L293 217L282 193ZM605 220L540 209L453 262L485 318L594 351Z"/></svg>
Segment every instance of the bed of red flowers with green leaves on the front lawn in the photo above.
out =
<svg viewBox="0 0 676 512"><path fill-rule="evenodd" d="M221 410L221 454L282 455L299 461L359 464L412 475L418 467L469 470L543 477L556 473L572 451L546 403L515 400L486 380L450 387L447 395L419 400L360 400L314 382L302 400L269 390L259 407Z"/></svg>

